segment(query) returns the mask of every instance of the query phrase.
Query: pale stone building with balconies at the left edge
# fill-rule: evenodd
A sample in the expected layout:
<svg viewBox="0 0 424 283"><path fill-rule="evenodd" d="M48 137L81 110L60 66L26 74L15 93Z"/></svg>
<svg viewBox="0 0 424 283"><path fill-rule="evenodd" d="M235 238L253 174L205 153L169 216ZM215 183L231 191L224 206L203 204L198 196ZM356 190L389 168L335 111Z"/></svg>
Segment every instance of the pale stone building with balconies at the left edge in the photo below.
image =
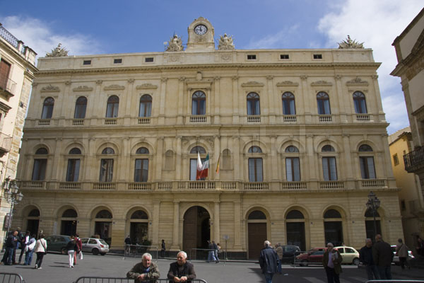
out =
<svg viewBox="0 0 424 283"><path fill-rule="evenodd" d="M15 179L25 113L33 83L35 55L0 23L0 246L3 245L10 204L4 199L5 180Z"/></svg>

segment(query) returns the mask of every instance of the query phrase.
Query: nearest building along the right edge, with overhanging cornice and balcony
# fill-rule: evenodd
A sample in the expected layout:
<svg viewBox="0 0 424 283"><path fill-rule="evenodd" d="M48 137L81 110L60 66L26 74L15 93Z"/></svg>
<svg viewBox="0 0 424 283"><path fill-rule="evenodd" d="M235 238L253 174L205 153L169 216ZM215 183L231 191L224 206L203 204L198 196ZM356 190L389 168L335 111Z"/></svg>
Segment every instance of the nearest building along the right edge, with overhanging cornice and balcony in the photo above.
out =
<svg viewBox="0 0 424 283"><path fill-rule="evenodd" d="M413 142L412 149L404 155L405 170L418 175L421 187L416 199L416 215L420 219L416 238L424 238L424 8L392 45L398 64L391 75L401 78Z"/></svg>

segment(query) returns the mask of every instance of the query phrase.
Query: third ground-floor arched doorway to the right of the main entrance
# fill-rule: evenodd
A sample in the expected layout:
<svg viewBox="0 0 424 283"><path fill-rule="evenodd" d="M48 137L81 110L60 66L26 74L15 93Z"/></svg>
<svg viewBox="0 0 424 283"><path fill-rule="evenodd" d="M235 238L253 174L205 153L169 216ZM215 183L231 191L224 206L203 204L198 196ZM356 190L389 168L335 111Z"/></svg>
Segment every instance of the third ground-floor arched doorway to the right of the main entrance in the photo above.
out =
<svg viewBox="0 0 424 283"><path fill-rule="evenodd" d="M343 226L341 214L336 209L329 209L324 213L324 236L325 243L333 243L334 246L343 245Z"/></svg>

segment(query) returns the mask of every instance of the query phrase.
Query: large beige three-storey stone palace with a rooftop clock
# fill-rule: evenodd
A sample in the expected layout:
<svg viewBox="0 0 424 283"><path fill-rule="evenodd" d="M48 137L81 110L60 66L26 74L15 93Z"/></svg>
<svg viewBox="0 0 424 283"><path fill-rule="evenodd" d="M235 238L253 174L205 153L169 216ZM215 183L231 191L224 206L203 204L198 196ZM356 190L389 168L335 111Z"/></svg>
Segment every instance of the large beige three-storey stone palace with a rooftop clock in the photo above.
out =
<svg viewBox="0 0 424 283"><path fill-rule="evenodd" d="M56 54L60 54L60 48ZM171 251L228 239L303 250L403 235L372 50L215 47L205 18L167 51L38 59L16 224ZM196 181L196 159L210 158ZM220 170L216 165L220 160ZM40 214L40 216L35 216Z"/></svg>

